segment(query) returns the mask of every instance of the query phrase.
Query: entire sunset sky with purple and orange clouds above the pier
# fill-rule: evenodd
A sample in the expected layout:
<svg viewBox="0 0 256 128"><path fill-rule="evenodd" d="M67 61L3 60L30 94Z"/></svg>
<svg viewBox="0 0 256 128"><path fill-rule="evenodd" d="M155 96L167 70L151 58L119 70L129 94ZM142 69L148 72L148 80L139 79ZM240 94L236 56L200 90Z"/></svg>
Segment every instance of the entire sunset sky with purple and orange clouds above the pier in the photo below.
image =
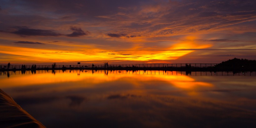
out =
<svg viewBox="0 0 256 128"><path fill-rule="evenodd" d="M0 0L0 64L256 60L255 0Z"/></svg>

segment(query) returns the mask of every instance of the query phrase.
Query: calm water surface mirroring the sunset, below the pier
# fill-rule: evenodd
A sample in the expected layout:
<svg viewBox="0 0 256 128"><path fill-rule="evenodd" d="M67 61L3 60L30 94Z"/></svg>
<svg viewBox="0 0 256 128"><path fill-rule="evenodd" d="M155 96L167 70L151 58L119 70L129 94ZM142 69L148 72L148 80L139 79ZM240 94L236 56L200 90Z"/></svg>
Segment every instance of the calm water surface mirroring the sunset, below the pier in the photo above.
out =
<svg viewBox="0 0 256 128"><path fill-rule="evenodd" d="M2 72L0 88L48 128L256 127L255 72L187 74Z"/></svg>

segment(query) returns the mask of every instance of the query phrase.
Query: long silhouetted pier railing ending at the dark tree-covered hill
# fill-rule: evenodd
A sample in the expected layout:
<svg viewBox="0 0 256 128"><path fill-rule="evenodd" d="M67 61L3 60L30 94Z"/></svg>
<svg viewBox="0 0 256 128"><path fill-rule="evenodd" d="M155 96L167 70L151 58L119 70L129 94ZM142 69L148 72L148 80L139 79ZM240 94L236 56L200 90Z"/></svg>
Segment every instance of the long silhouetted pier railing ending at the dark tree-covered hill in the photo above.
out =
<svg viewBox="0 0 256 128"><path fill-rule="evenodd" d="M33 66L34 69L42 68L160 68L160 67L194 67L194 68L206 68L215 67L217 64L203 64L203 63L184 63L184 64L86 64L86 65L36 65ZM1 65L0 69L24 69L22 65ZM25 65L26 69L32 69L32 65Z"/></svg>

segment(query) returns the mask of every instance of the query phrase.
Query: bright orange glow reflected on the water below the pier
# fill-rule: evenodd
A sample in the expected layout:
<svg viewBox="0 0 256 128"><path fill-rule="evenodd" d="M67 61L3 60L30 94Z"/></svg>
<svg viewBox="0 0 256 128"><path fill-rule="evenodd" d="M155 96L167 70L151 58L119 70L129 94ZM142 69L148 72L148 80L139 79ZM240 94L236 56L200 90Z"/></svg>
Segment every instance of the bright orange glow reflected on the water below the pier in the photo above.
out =
<svg viewBox="0 0 256 128"><path fill-rule="evenodd" d="M145 73L144 71L130 72L130 71L106 71L106 70L66 70L62 72L57 70L56 73L52 71L37 71L32 74L27 71L26 75L12 75L10 78L1 79L1 88L9 88L16 86L31 86L31 85L47 85L52 83L65 83L65 82L80 82L77 86L94 86L99 83L125 81L131 83L134 87L141 86L143 82L161 81L169 83L169 86L175 86L180 89L193 90L200 86L211 87L212 84L206 82L198 82L195 79L185 75L167 75L157 71L158 74L154 75L153 71ZM170 72L170 71L169 71ZM106 75L106 73L108 73ZM153 73L153 74L152 74ZM172 72L176 74L176 72ZM21 74L17 71L16 74ZM171 74L171 73L170 73ZM12 83L10 83L10 81ZM76 86L76 87L77 87ZM72 88L74 86L70 86Z"/></svg>

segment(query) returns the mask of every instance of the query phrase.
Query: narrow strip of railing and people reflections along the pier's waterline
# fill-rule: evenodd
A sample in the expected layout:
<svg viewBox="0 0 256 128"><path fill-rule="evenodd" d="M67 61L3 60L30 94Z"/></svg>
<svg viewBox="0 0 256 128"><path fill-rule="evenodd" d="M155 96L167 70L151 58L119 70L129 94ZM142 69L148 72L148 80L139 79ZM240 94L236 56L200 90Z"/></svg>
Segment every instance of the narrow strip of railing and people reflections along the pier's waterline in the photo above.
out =
<svg viewBox="0 0 256 128"><path fill-rule="evenodd" d="M21 70L21 71L1 71L0 76L10 77L20 74L56 74L56 73L77 73L78 76L83 73L104 73L106 76L114 74L138 74L138 75L186 75L186 76L256 76L256 72L230 72L230 71L167 71L167 70L91 70L91 69L66 69L66 70Z"/></svg>

